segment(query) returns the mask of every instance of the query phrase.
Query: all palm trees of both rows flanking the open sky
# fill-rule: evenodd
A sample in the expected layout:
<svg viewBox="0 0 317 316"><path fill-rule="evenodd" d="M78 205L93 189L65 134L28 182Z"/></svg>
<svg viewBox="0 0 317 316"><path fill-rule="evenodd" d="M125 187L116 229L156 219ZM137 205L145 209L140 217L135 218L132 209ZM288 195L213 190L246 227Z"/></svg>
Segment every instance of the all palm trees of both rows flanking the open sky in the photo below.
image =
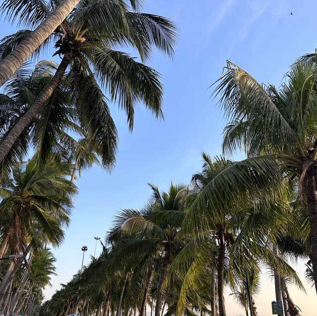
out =
<svg viewBox="0 0 317 316"><path fill-rule="evenodd" d="M163 117L159 73L144 62L153 48L172 56L177 29L135 0L4 0L1 8L30 27L0 41L1 313L144 316L150 306L155 316L225 316L228 284L255 316L267 266L285 316L298 315L287 285L302 284L289 258L308 260L317 289L316 56L294 63L280 88L227 62L214 90L229 122L223 151L247 158L204 154L189 186L151 185L150 202L119 214L103 254L39 310L53 269L35 272L36 256L53 263L48 246L63 239L77 173L114 166L109 104L125 111L130 130L137 102ZM53 47L59 64L23 64Z"/></svg>

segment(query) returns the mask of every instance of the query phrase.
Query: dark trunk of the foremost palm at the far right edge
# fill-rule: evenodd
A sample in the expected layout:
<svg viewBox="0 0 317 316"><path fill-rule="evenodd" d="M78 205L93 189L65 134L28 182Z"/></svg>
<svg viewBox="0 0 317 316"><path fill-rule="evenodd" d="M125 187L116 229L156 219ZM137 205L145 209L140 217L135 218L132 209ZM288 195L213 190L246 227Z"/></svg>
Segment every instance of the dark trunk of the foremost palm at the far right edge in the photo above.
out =
<svg viewBox="0 0 317 316"><path fill-rule="evenodd" d="M307 182L307 204L308 204L308 214L309 222L311 226L310 241L312 245L312 264L314 273L315 289L317 292L317 190L315 181L315 169L311 167L306 172L306 182Z"/></svg>

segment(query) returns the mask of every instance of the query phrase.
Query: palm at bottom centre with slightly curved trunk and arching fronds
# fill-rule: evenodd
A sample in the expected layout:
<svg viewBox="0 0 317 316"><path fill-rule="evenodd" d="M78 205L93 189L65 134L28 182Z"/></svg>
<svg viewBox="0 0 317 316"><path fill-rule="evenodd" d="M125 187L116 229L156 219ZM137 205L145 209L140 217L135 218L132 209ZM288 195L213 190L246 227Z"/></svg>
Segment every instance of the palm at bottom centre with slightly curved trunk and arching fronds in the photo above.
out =
<svg viewBox="0 0 317 316"><path fill-rule="evenodd" d="M141 211L124 210L116 217L114 232L135 235L124 238L118 250L114 252L116 261L128 258L137 251L141 254L160 253L160 265L155 316L160 316L163 305L163 283L173 260L173 256L184 246L177 238L178 230L185 217L186 186L171 184L168 192L159 192L157 186L150 184L153 190L152 203ZM111 240L111 235L110 235Z"/></svg>

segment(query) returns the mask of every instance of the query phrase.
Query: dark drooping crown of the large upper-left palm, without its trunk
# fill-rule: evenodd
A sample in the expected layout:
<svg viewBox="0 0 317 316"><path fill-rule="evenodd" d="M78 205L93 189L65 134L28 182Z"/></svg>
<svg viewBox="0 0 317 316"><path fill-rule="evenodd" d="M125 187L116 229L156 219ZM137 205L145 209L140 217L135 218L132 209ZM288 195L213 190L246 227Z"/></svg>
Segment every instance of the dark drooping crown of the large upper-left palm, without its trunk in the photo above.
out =
<svg viewBox="0 0 317 316"><path fill-rule="evenodd" d="M138 3L131 2L134 6ZM56 4L58 1L28 1L28 4L23 2L21 5L17 1L7 1L4 9L9 10L12 17L21 14L22 21L31 15L30 21L36 24ZM29 32L18 31L2 39L1 59ZM150 57L153 47L172 56L176 37L177 30L170 20L129 11L129 6L122 0L81 0L51 38L39 47L41 51L52 41L55 42L55 54L63 55L64 64L70 65L66 80L68 96L74 105L77 121L99 147L103 165L112 166L116 153L116 129L108 98L126 112L130 130L133 128L134 108L138 103L143 103L156 117L163 118L159 73L134 57L115 50L115 47L134 47L141 61L144 61ZM2 137L3 144L9 133L8 128ZM14 146L20 148L19 152L15 150L15 155L21 157L25 150L19 144L19 139L15 142ZM9 154L8 158L11 156L14 158L14 153Z"/></svg>

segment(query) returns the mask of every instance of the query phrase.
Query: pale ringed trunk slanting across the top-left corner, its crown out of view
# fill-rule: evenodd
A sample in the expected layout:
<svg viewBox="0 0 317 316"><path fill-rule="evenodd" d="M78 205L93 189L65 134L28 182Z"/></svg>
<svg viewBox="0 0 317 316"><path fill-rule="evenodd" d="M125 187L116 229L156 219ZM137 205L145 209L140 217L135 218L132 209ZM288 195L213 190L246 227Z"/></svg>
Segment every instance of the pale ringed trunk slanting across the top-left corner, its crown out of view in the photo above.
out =
<svg viewBox="0 0 317 316"><path fill-rule="evenodd" d="M0 87L30 57L36 48L54 32L78 2L79 0L62 1L26 39L0 62Z"/></svg>

